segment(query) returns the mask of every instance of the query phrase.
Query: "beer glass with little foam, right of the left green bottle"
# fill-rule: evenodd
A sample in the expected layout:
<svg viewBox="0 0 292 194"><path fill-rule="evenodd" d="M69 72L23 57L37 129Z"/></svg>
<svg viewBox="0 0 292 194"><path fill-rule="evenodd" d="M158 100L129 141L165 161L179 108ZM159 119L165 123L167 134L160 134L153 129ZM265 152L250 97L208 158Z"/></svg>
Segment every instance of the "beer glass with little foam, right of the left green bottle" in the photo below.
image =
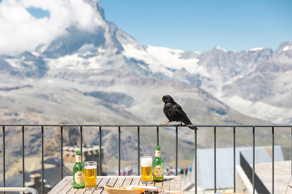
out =
<svg viewBox="0 0 292 194"><path fill-rule="evenodd" d="M96 162L84 162L84 186L85 190L93 191L96 189Z"/></svg>

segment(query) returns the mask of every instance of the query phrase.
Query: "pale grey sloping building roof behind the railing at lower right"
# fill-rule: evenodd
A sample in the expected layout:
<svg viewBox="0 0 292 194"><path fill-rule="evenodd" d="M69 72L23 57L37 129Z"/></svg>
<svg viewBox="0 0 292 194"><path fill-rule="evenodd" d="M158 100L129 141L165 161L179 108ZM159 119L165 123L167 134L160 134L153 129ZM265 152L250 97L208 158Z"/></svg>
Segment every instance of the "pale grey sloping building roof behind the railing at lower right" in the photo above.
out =
<svg viewBox="0 0 292 194"><path fill-rule="evenodd" d="M255 164L271 162L267 147L255 147ZM271 147L270 147L271 149ZM252 164L252 147L235 147L235 165L240 164L240 152ZM281 146L274 146L274 161L284 161ZM193 169L195 164L193 162ZM235 171L236 173L236 171ZM195 183L194 170L191 181ZM233 147L216 148L216 187L233 187ZM208 190L214 189L214 149L197 149L197 185Z"/></svg>

